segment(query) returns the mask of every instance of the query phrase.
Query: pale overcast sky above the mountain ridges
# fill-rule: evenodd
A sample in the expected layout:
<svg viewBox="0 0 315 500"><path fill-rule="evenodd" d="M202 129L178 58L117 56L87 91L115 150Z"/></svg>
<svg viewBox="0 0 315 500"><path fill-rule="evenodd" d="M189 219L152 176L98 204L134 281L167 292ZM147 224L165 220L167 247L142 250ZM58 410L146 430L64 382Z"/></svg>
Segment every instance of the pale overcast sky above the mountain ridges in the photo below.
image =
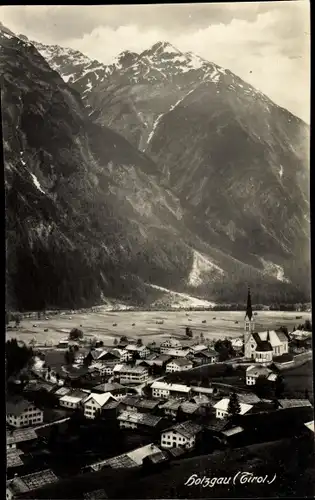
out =
<svg viewBox="0 0 315 500"><path fill-rule="evenodd" d="M0 21L31 40L110 63L123 50L171 42L230 69L309 122L307 0L251 3L3 6Z"/></svg>

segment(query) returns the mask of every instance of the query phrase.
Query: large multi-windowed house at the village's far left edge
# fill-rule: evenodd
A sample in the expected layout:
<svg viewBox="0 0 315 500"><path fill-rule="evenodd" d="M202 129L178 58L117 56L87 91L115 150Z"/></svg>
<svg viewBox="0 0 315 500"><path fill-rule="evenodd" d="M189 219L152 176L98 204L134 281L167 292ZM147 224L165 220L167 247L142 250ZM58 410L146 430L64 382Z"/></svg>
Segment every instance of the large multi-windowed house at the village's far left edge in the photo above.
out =
<svg viewBox="0 0 315 500"><path fill-rule="evenodd" d="M6 420L12 427L41 424L43 418L44 412L26 399L15 396L7 400Z"/></svg>

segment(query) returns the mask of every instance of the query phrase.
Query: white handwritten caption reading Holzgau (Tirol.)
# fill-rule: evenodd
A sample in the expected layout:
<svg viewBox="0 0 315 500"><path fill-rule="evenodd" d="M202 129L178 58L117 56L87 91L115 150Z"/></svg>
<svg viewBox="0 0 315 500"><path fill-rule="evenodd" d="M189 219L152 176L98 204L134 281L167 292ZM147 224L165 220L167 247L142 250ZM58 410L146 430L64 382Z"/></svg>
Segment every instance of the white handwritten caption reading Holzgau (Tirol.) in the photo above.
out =
<svg viewBox="0 0 315 500"><path fill-rule="evenodd" d="M199 477L197 474L193 474L187 479L185 486L202 486L203 488L213 488L216 485L236 485L236 484L272 484L277 475L274 474L273 477L266 476L255 476L252 472L237 472L235 476L230 477Z"/></svg>

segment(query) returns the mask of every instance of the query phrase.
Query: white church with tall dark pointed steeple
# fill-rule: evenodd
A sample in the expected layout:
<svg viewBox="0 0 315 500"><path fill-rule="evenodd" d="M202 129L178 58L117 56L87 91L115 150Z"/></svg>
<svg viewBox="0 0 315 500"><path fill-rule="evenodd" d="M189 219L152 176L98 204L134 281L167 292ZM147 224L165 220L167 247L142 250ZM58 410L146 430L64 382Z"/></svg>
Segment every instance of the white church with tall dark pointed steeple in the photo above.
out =
<svg viewBox="0 0 315 500"><path fill-rule="evenodd" d="M244 355L256 363L272 363L276 356L289 350L288 336L282 331L255 331L250 289L248 289L247 306L244 325Z"/></svg>

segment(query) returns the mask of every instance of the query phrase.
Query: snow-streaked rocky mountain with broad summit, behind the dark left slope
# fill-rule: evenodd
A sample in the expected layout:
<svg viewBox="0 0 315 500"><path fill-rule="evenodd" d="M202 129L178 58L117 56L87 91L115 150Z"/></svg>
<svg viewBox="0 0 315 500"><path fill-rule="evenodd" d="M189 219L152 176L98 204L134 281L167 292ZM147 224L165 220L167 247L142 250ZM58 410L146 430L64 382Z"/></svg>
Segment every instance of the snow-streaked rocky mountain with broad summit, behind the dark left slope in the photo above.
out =
<svg viewBox="0 0 315 500"><path fill-rule="evenodd" d="M310 131L302 120L167 42L121 54L90 91L87 84L73 85L93 119L156 162L159 182L203 241L282 283L309 283Z"/></svg>

